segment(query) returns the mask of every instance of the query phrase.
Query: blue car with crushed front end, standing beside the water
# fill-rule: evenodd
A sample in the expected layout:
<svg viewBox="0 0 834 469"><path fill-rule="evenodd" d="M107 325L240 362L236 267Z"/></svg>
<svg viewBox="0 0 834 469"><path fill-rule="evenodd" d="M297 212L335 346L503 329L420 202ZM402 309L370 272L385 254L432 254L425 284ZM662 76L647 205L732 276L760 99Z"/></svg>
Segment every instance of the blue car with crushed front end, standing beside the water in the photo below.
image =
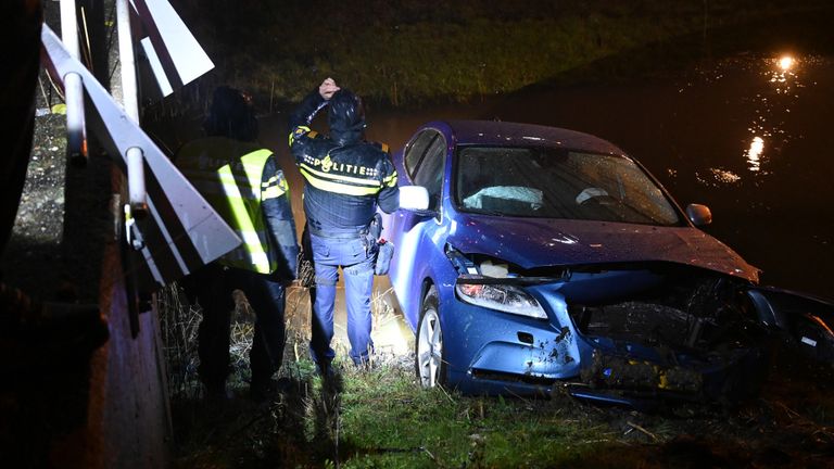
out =
<svg viewBox="0 0 834 469"><path fill-rule="evenodd" d="M746 398L774 340L832 363L831 302L758 286L636 160L597 137L433 122L394 154L429 208L383 220L422 386L636 405Z"/></svg>

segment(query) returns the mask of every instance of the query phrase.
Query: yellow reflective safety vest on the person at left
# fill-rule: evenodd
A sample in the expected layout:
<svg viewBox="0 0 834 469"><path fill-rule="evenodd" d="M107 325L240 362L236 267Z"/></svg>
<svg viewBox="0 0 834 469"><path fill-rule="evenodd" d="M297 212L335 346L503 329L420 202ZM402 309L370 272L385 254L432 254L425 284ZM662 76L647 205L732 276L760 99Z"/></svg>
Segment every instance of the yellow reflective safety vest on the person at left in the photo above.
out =
<svg viewBox="0 0 834 469"><path fill-rule="evenodd" d="M223 137L187 143L177 153L175 163L182 175L243 240L218 259L223 265L261 274L270 274L278 266L261 203L283 195L288 188L282 176L262 183L271 154L253 143Z"/></svg>

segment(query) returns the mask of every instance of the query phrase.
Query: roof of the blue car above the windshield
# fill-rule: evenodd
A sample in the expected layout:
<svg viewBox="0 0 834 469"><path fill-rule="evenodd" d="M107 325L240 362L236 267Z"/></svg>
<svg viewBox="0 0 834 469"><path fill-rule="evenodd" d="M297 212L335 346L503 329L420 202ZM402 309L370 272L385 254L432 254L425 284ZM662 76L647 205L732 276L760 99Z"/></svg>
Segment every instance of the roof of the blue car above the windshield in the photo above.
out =
<svg viewBox="0 0 834 469"><path fill-rule="evenodd" d="M559 127L501 121L444 121L432 124L426 127L447 127L456 144L563 147L595 153L626 154L609 141Z"/></svg>

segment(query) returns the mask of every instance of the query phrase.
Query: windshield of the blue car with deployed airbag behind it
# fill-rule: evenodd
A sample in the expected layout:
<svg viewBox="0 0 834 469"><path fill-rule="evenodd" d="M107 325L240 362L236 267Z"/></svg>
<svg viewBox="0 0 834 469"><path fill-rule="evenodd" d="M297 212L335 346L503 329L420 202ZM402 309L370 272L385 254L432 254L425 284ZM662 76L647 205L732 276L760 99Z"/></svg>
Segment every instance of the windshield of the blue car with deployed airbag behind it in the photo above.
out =
<svg viewBox="0 0 834 469"><path fill-rule="evenodd" d="M553 148L463 147L456 164L466 212L680 225L678 211L632 160Z"/></svg>

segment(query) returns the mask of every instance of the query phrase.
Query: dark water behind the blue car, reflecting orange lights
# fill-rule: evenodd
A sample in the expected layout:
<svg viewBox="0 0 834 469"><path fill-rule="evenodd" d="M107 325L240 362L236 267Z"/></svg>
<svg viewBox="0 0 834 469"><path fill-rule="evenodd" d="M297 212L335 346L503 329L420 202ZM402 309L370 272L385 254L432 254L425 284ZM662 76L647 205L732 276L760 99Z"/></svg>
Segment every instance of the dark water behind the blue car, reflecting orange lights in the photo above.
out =
<svg viewBox="0 0 834 469"><path fill-rule="evenodd" d="M475 104L370 109L368 137L399 149L419 124L443 118L596 135L636 157L682 205L708 205L713 223L705 230L762 269L763 284L834 297L834 63L782 59L741 56L661 79L536 89ZM275 135L267 143L283 156L300 208L286 124L265 126L263 137Z"/></svg>

